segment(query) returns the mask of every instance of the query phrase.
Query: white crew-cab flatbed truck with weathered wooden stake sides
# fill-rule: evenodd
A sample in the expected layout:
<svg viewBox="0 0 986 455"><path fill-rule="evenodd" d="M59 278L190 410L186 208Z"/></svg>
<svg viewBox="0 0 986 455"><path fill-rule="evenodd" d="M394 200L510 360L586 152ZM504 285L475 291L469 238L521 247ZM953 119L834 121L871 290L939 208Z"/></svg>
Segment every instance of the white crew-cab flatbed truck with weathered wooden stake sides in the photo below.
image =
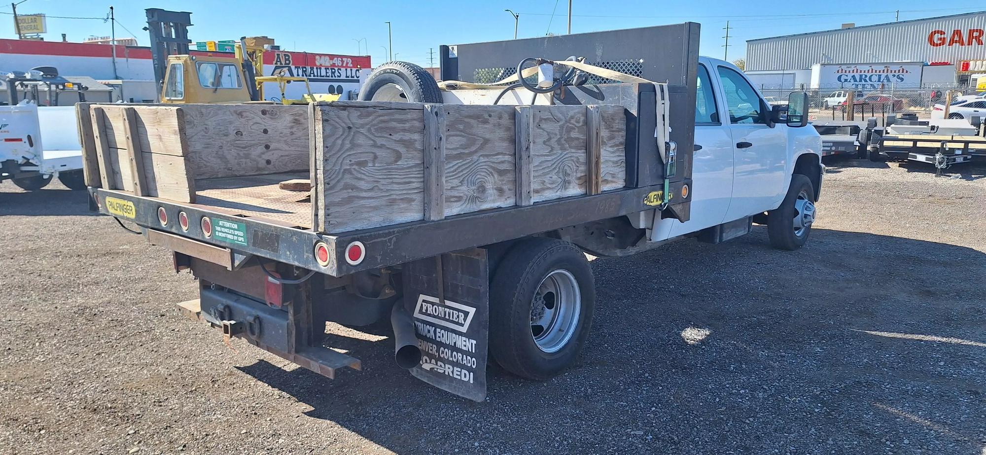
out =
<svg viewBox="0 0 986 455"><path fill-rule="evenodd" d="M770 106L698 36L442 46L442 79L466 82L390 62L364 100L307 107L80 104L92 208L174 250L200 283L179 307L226 338L334 377L361 364L323 345L325 323L388 318L400 366L482 401L487 354L538 380L580 355L585 252L753 223L779 249L808 240L823 174L808 97ZM593 66L559 63L573 54ZM539 80L485 87L517 62Z"/></svg>

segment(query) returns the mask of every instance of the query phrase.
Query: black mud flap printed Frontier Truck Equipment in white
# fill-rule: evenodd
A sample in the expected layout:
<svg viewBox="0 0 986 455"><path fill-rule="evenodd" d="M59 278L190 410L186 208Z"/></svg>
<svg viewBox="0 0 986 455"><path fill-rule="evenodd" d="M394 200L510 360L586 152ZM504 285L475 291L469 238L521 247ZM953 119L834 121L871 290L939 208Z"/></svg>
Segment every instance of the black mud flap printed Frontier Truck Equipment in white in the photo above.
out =
<svg viewBox="0 0 986 455"><path fill-rule="evenodd" d="M486 399L489 266L471 248L404 266L404 306L412 315L422 381L476 402ZM439 287L440 283L445 286ZM443 302L444 300L444 302Z"/></svg>

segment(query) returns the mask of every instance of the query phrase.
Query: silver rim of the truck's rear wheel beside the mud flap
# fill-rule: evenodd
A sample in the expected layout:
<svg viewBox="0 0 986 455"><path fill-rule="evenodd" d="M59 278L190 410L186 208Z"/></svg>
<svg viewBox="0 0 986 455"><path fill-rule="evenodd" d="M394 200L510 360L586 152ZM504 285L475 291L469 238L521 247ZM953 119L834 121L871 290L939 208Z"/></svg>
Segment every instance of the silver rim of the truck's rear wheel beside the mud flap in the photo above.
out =
<svg viewBox="0 0 986 455"><path fill-rule="evenodd" d="M537 349L557 353L575 335L582 313L582 292L571 272L549 273L530 302L530 336Z"/></svg>

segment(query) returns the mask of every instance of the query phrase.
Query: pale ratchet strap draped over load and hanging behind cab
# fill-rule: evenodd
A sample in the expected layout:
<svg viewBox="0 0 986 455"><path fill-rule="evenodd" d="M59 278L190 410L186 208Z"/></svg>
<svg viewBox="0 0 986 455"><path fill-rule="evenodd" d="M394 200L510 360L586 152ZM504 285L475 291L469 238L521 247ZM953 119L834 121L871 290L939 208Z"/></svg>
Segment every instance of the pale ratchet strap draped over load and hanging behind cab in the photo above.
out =
<svg viewBox="0 0 986 455"><path fill-rule="evenodd" d="M632 76L626 73L621 73L619 71L614 71L606 68L601 68L596 65L590 65L585 62L572 61L572 60L561 60L555 61L554 63L558 65L570 66L577 70L585 71L586 73L592 74L594 76L599 76L603 79L610 79L613 81L630 83L630 84L651 84L655 89L655 98L657 100L657 122L654 128L654 138L655 142L658 144L658 154L661 156L661 161L665 163L665 191L664 191L664 202L662 204L662 209L667 207L670 201L670 177L676 172L676 155L677 152L673 145L669 143L670 137L670 127L669 127L669 102L668 102L668 84L659 84L654 81L648 81L644 78ZM532 66L526 68L523 71L523 76L528 78L537 74L537 66ZM503 78L497 82L491 84L476 84L464 81L442 81L438 83L438 87L441 90L454 90L454 89L464 89L464 90L503 90L505 84L510 84L518 81L517 73L511 76Z"/></svg>

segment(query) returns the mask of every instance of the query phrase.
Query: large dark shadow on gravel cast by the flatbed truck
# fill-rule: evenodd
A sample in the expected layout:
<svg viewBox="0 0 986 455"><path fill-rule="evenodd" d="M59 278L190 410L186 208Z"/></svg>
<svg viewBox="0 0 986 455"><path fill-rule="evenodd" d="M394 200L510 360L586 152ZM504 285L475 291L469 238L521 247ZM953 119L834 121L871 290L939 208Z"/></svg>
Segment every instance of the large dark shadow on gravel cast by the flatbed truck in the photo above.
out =
<svg viewBox="0 0 986 455"><path fill-rule="evenodd" d="M546 382L491 366L473 403L347 347L328 380L246 374L396 453L938 453L986 435L986 254L816 228L797 252L765 228L592 261L598 302L577 366Z"/></svg>

